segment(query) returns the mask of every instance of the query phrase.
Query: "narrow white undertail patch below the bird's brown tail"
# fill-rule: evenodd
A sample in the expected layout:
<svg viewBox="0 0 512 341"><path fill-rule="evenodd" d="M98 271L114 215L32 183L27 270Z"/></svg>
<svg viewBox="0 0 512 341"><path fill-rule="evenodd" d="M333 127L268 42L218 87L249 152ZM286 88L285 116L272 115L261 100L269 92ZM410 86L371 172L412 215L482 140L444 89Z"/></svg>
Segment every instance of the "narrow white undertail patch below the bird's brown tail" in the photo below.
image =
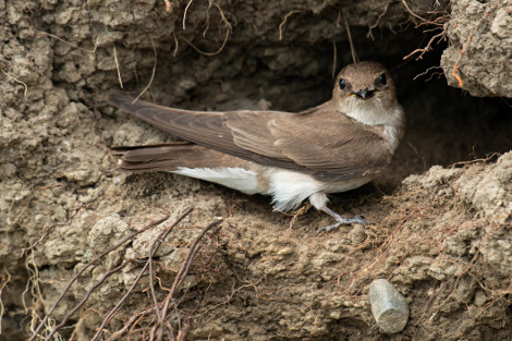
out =
<svg viewBox="0 0 512 341"><path fill-rule="evenodd" d="M175 174L186 175L240 191L245 194L263 193L265 187L258 182L256 173L240 167L230 168L185 168L180 167L173 171Z"/></svg>

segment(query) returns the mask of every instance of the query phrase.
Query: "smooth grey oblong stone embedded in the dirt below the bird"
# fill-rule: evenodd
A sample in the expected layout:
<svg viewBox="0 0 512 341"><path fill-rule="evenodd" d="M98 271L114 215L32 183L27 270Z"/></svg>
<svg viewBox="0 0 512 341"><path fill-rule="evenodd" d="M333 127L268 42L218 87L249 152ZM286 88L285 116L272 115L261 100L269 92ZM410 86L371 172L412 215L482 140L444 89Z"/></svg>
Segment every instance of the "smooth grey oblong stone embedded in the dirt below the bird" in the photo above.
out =
<svg viewBox="0 0 512 341"><path fill-rule="evenodd" d="M403 295L386 279L376 279L369 288L371 314L381 332L397 333L405 328L409 306Z"/></svg>

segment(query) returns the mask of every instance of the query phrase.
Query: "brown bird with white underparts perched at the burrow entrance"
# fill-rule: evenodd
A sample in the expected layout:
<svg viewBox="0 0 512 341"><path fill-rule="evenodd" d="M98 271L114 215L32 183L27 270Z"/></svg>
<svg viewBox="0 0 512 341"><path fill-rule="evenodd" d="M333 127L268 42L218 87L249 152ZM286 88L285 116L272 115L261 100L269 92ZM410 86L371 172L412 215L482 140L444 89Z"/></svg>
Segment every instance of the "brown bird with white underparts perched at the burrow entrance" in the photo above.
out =
<svg viewBox="0 0 512 341"><path fill-rule="evenodd" d="M327 207L328 193L371 181L391 161L405 118L389 72L359 62L338 74L332 98L312 109L190 111L111 94L108 101L188 143L112 148L120 170L169 171L246 194L272 196L278 210L310 204L340 224L363 223Z"/></svg>

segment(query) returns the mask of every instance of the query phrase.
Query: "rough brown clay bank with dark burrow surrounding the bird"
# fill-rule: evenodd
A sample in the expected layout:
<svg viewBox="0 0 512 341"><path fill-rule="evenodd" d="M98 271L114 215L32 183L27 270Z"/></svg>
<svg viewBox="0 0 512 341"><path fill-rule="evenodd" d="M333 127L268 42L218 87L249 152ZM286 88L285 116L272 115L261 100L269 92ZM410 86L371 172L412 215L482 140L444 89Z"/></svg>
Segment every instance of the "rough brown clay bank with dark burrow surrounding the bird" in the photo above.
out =
<svg viewBox="0 0 512 341"><path fill-rule="evenodd" d="M0 0L0 340L39 325L46 338L64 319L51 340L149 340L171 291L163 330L186 340L510 340L511 9ZM390 69L407 115L387 172L331 197L373 224L317 235L331 221L307 206L284 215L268 197L115 171L109 146L175 138L109 106L110 92L185 109L303 110L329 99L332 73L352 62L345 23L359 59ZM371 316L377 278L410 305L398 334Z"/></svg>

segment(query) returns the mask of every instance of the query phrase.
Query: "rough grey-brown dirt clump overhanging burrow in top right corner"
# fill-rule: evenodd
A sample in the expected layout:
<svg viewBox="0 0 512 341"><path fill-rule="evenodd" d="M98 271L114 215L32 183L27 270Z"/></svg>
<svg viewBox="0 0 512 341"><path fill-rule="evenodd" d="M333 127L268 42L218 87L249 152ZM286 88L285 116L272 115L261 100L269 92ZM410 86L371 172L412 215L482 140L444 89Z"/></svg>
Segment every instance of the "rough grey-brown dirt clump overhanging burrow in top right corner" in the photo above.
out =
<svg viewBox="0 0 512 341"><path fill-rule="evenodd" d="M452 1L441 66L473 96L512 97L512 1Z"/></svg>

